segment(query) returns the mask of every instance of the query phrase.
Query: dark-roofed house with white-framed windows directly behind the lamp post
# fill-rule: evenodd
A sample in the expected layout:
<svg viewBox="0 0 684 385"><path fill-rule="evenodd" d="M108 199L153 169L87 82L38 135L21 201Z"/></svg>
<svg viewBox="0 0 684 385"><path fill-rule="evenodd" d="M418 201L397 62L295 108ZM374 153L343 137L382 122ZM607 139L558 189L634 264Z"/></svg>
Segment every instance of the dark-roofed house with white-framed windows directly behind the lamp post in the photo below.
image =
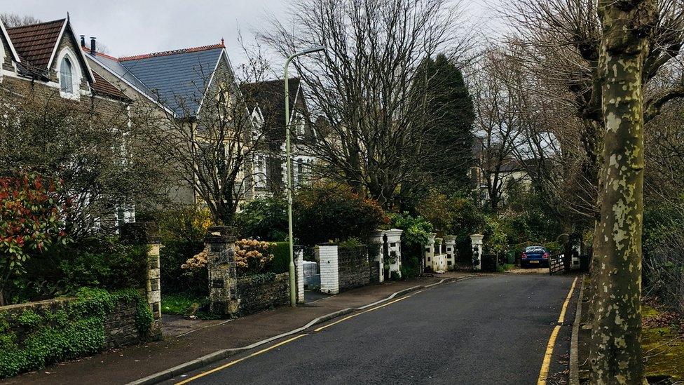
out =
<svg viewBox="0 0 684 385"><path fill-rule="evenodd" d="M254 137L261 137L258 151L254 151L255 194L278 196L287 184L285 163L285 79L260 81L242 85L249 114L254 122ZM313 180L312 170L317 163L313 154L317 133L299 78L289 79L289 125L294 188Z"/></svg>

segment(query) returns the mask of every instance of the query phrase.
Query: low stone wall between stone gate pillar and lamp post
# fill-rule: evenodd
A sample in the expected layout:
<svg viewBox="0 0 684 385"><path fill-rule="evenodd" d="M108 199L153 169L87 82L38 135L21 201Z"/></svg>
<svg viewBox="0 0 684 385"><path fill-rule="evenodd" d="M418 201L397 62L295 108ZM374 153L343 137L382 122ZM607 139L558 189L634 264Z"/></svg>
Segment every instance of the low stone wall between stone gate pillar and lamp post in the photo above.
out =
<svg viewBox="0 0 684 385"><path fill-rule="evenodd" d="M289 274L259 274L238 278L238 313L256 313L259 310L289 304Z"/></svg>

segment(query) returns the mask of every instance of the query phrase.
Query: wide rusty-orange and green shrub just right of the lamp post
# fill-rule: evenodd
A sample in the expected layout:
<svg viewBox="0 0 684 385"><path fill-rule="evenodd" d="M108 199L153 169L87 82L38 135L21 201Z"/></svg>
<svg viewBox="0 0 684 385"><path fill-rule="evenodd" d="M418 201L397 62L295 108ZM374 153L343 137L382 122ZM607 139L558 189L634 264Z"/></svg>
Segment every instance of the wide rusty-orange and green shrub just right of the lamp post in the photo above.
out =
<svg viewBox="0 0 684 385"><path fill-rule="evenodd" d="M388 222L376 201L362 198L343 186L303 187L296 194L294 205L295 236L303 245L352 237L367 240Z"/></svg>

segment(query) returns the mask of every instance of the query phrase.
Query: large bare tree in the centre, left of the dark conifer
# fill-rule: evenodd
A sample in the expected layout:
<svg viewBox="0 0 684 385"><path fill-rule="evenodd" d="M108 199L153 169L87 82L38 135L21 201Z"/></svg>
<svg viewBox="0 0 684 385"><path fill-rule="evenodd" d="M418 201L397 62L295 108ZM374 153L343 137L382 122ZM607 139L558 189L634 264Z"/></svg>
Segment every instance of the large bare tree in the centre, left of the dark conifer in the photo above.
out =
<svg viewBox="0 0 684 385"><path fill-rule="evenodd" d="M421 113L430 101L418 67L438 50L458 59L468 47L454 38L456 10L444 0L295 0L290 7L289 25L274 22L261 38L284 56L327 47L294 62L313 114L325 122L313 149L325 166L320 173L391 208L400 186L420 185L430 158L431 118Z"/></svg>

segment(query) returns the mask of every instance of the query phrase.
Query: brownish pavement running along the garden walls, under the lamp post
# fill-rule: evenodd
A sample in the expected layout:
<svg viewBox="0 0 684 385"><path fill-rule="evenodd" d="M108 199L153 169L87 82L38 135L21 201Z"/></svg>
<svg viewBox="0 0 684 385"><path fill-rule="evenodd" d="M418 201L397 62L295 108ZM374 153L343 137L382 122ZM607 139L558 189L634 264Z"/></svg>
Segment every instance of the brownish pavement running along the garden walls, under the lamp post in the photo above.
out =
<svg viewBox="0 0 684 385"><path fill-rule="evenodd" d="M252 316L201 327L185 325L181 320L174 319L177 327L163 341L114 349L92 357L51 365L43 370L2 380L0 384L126 384L222 349L249 346L302 327L315 318L371 304L400 290L466 275L448 273L411 281L369 285L318 299L308 305L261 311Z"/></svg>

